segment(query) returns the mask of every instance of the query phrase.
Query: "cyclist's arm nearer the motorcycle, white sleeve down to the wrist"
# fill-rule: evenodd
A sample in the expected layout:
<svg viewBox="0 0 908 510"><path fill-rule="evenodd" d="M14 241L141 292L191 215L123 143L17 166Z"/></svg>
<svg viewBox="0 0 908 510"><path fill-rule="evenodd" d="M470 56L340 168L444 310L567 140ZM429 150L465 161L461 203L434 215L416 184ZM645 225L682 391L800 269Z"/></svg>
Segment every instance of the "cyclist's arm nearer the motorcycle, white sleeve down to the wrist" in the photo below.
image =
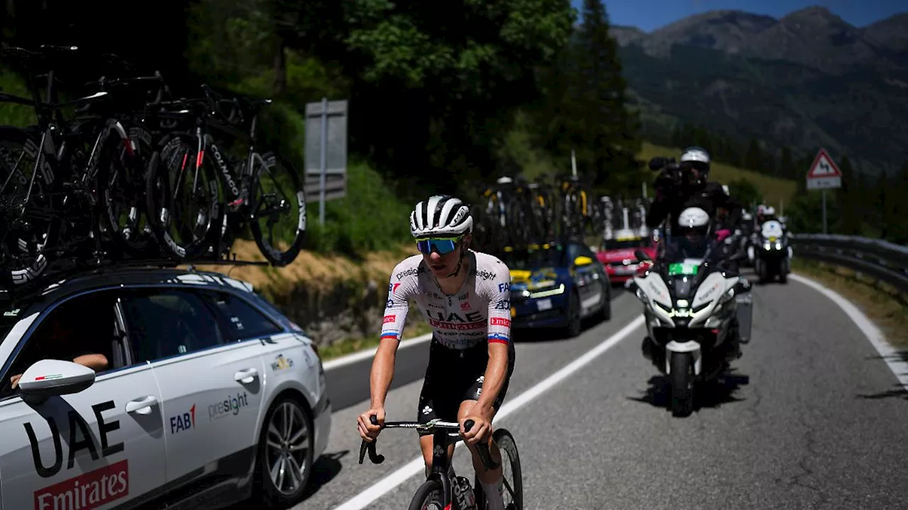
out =
<svg viewBox="0 0 908 510"><path fill-rule="evenodd" d="M510 270L504 262L495 265L495 278L486 281L489 296L489 362L477 407L489 416L508 375L510 350Z"/></svg>

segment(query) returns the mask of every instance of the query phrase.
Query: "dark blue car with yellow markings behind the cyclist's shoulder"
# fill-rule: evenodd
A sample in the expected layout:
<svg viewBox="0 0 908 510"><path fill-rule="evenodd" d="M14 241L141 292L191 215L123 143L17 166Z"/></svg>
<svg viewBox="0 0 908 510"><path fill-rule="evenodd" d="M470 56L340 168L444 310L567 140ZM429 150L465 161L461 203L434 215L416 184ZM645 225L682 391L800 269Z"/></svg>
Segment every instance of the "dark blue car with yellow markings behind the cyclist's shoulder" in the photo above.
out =
<svg viewBox="0 0 908 510"><path fill-rule="evenodd" d="M611 283L587 245L544 244L498 256L511 274L513 329L563 328L573 338L580 334L581 320L611 318Z"/></svg>

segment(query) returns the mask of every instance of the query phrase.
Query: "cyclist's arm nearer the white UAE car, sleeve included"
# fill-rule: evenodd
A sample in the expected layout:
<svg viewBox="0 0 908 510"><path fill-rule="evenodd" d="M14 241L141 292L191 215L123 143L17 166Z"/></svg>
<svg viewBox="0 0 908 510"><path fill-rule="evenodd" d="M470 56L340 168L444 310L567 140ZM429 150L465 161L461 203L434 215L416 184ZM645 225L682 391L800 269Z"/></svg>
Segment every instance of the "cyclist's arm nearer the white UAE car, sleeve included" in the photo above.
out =
<svg viewBox="0 0 908 510"><path fill-rule="evenodd" d="M375 352L375 358L372 359L370 397L373 409L385 405L385 397L388 396L391 379L394 378L394 361L397 357L397 348L400 346L400 336L407 323L410 298L413 297L417 288L417 275L404 275L402 280L398 280L397 275L410 269L409 264L407 267L404 265L404 262L400 262L391 272L388 303L385 305L385 315L382 319L379 348Z"/></svg>

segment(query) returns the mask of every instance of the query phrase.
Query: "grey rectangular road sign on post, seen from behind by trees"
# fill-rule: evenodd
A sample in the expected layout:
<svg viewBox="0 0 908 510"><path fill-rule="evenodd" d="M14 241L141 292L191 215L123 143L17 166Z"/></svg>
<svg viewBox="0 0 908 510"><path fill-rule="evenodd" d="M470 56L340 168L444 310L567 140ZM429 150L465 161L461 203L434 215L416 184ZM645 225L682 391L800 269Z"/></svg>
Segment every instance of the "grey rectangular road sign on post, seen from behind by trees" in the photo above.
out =
<svg viewBox="0 0 908 510"><path fill-rule="evenodd" d="M319 201L325 224L325 201L347 194L347 101L306 104L306 201ZM317 191L313 190L315 188Z"/></svg>

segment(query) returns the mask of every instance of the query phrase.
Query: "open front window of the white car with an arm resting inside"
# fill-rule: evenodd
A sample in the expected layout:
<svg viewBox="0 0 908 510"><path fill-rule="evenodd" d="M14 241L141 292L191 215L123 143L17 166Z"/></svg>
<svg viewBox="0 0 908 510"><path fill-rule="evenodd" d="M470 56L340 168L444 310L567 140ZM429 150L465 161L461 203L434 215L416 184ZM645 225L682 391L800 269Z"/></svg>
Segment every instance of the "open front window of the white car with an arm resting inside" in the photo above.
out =
<svg viewBox="0 0 908 510"><path fill-rule="evenodd" d="M116 325L115 302L113 291L94 292L68 299L39 317L8 377L0 381L0 397L15 394L13 378L42 359L74 361L98 374L122 368L123 337Z"/></svg>

